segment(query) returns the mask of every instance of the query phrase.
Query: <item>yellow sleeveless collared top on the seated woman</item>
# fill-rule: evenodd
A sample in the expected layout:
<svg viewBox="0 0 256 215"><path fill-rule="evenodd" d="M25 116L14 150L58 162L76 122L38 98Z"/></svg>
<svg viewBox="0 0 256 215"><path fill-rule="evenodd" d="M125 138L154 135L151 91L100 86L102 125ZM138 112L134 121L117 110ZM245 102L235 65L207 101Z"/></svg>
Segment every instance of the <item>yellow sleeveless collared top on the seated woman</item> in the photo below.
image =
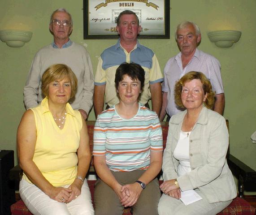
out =
<svg viewBox="0 0 256 215"><path fill-rule="evenodd" d="M31 108L35 115L37 139L33 161L43 176L53 186L73 183L77 175L77 150L80 142L82 118L79 111L74 111L66 104L66 120L63 129L56 125L48 107L48 99ZM30 182L26 174L23 178Z"/></svg>

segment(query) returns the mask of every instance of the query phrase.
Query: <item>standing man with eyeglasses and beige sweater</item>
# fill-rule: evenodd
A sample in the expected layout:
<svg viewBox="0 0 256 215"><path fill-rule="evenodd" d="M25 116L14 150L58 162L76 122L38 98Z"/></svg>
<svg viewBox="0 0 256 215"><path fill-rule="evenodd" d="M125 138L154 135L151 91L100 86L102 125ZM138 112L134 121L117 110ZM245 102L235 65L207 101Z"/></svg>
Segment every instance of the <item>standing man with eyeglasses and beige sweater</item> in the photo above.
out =
<svg viewBox="0 0 256 215"><path fill-rule="evenodd" d="M44 71L52 64L66 64L78 78L76 95L69 103L87 119L93 103L94 88L90 56L84 47L69 39L73 22L65 9L57 9L52 13L49 29L53 35L53 42L36 53L24 87L26 109L36 107L43 100L41 77Z"/></svg>

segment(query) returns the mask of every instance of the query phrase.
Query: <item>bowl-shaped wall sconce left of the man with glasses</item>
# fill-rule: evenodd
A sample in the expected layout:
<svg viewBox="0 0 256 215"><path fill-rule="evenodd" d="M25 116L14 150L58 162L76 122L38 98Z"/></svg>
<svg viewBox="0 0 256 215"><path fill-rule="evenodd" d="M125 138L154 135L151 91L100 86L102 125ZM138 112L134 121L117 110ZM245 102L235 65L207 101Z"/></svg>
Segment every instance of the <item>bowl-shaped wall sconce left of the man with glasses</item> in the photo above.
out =
<svg viewBox="0 0 256 215"><path fill-rule="evenodd" d="M0 39L9 47L22 47L30 41L32 34L25 30L0 30Z"/></svg>

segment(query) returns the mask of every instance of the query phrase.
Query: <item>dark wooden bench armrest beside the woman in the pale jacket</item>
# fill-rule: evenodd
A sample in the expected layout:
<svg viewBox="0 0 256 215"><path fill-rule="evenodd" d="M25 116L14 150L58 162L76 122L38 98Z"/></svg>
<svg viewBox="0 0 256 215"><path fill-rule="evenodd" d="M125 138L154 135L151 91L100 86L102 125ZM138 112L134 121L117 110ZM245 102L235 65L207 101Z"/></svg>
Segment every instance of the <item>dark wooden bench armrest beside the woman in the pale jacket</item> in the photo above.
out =
<svg viewBox="0 0 256 215"><path fill-rule="evenodd" d="M243 191L256 191L256 171L248 167L245 163L234 157L227 156L227 163L234 176L239 180L238 194L243 198Z"/></svg>

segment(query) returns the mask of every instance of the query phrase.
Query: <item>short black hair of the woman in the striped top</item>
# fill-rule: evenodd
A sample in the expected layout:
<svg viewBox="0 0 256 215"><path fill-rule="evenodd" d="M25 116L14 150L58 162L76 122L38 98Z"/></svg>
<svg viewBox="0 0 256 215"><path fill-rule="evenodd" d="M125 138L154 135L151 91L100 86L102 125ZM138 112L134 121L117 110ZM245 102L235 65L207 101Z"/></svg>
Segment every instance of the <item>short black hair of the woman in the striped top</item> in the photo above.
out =
<svg viewBox="0 0 256 215"><path fill-rule="evenodd" d="M138 79L140 81L140 90L143 89L145 82L145 71L139 64L125 62L118 66L115 77L116 89L118 88L119 82L124 79L125 75L128 75L133 81Z"/></svg>

